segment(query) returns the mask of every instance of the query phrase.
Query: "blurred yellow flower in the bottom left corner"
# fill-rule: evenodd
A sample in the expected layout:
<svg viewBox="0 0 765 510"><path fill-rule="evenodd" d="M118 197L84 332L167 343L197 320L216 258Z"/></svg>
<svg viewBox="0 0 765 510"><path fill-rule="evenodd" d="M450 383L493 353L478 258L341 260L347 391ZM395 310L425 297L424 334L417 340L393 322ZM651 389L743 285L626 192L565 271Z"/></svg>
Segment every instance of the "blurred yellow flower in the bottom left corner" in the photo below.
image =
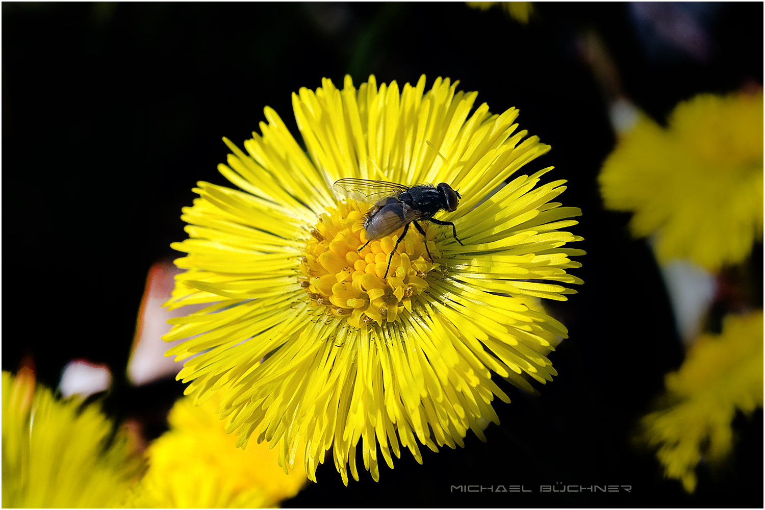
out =
<svg viewBox="0 0 765 510"><path fill-rule="evenodd" d="M96 405L57 401L34 375L2 372L2 505L104 508L121 505L141 463Z"/></svg>

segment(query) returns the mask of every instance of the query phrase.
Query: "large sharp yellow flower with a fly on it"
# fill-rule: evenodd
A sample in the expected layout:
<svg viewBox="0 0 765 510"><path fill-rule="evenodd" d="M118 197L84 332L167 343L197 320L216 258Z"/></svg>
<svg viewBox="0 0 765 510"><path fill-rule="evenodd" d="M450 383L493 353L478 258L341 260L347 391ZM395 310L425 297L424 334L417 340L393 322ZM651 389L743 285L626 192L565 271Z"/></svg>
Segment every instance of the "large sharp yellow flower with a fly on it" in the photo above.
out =
<svg viewBox="0 0 765 510"><path fill-rule="evenodd" d="M565 300L581 283L566 274L583 252L562 248L581 238L562 229L581 211L551 202L564 180L536 187L521 175L493 196L523 164L549 150L539 138L513 133L518 112L492 115L477 93L425 76L399 93L374 76L358 90L347 76L292 96L306 154L278 115L265 109L262 135L245 142L220 172L244 191L200 183L184 209L190 239L173 247L170 307L215 303L171 320L166 340L194 336L168 351L189 359L178 375L187 394L204 401L223 385L219 411L227 430L247 443L277 447L282 465L304 452L308 478L332 448L347 483L356 445L379 479L377 447L392 467L399 441L419 462L431 450L462 446L467 429L483 438L480 418L498 422L494 396L509 401L496 372L526 391L529 379L556 375L545 355L565 326L539 297ZM440 153L440 154L439 154ZM343 200L340 178L402 184L444 181L462 199L438 219L412 228L387 262L402 229L366 242L369 205ZM487 199L483 201L484 199ZM433 256L428 258L427 252Z"/></svg>

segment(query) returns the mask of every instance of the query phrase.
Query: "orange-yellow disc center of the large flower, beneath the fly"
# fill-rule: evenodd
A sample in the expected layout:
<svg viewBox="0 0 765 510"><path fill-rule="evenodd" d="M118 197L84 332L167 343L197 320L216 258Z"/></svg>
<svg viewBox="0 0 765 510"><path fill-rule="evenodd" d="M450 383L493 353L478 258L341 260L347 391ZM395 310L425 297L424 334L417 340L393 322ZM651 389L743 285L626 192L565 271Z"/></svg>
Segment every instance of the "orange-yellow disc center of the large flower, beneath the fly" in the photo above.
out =
<svg viewBox="0 0 765 510"><path fill-rule="evenodd" d="M382 321L396 321L404 309L412 311L412 297L428 288L428 272L438 268L425 252L425 242L417 229L410 228L390 260L390 252L401 236L403 226L390 236L366 242L363 226L369 206L353 200L328 208L319 218L311 239L305 244L300 263L301 286L314 306L327 307L327 314L348 317L354 327ZM428 222L421 223L427 239L433 238ZM428 241L434 258L441 256L435 243ZM387 278L383 278L388 271Z"/></svg>

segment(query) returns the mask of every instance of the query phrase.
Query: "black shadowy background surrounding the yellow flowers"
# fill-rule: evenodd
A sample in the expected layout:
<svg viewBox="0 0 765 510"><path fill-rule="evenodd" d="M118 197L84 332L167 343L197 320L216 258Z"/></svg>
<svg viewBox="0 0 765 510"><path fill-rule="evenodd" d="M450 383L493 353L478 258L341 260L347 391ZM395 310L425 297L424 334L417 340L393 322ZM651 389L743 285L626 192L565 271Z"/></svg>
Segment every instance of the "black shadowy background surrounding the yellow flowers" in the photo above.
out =
<svg viewBox="0 0 765 510"><path fill-rule="evenodd" d="M380 482L360 468L347 488L327 456L319 483L283 505L761 507L762 411L736 418L731 462L702 463L693 495L633 445L636 420L683 349L649 248L629 238L628 215L602 209L596 176L614 134L578 41L599 34L624 92L661 121L696 93L762 83L763 5L691 5L710 43L702 59L662 45L627 4L535 7L523 26L461 2L3 2L2 368L31 356L55 387L70 359L106 363L116 377L109 411L158 421L181 383L132 388L122 374L148 268L180 256L169 244L186 237L191 187L228 184L216 171L228 153L221 137L241 147L266 105L296 134L290 94L324 76L342 86L350 73L358 86L374 73L401 85L425 73L428 88L449 76L493 112L518 107L520 128L553 148L524 171L555 165L549 179L569 180L562 202L584 211L572 232L588 255L572 272L586 284L551 307L570 330L552 354L560 375L539 398L502 386L513 403L497 400L502 424L486 430L487 443L468 433L464 449L421 447L423 466L402 451ZM761 245L755 254L759 282ZM534 492L450 492L466 484ZM539 492L554 484L632 491Z"/></svg>

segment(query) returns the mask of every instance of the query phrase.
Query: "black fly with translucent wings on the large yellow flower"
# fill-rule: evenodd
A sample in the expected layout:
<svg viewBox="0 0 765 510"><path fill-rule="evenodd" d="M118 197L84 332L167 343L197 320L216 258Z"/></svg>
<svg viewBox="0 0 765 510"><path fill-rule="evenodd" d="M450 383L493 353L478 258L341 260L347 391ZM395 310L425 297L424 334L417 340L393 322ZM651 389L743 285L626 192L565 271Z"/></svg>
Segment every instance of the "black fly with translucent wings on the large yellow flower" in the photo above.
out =
<svg viewBox="0 0 765 510"><path fill-rule="evenodd" d="M409 225L412 223L423 237L425 237L425 230L417 223L418 221L429 221L436 225L451 225L452 235L454 239L457 239L457 227L454 226L454 223L433 219L435 213L439 211L457 210L457 204L462 198L458 191L451 189L451 186L446 183L440 183L438 186L431 186L430 184L405 186L384 180L340 179L335 181L332 187L337 193L348 198L373 204L364 219L366 242L357 250L358 252L374 239L388 236L402 226L404 227L404 232L396 240L396 246L388 255L388 267L382 278L388 277L393 254L396 253L399 243L406 236ZM460 239L457 239L457 242L462 245ZM428 257L433 261L433 255L428 249L427 242L425 243L425 251L428 252Z"/></svg>

